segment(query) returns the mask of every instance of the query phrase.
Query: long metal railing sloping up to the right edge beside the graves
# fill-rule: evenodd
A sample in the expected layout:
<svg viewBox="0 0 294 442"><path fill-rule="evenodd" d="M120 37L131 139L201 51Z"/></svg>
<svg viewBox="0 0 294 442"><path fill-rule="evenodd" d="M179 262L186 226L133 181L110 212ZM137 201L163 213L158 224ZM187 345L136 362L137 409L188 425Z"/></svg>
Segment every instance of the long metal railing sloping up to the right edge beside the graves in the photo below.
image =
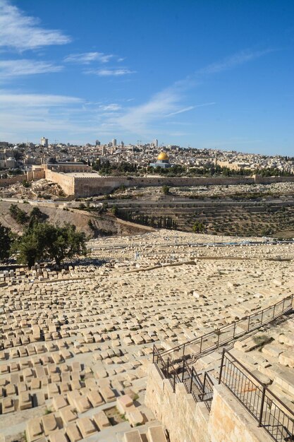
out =
<svg viewBox="0 0 294 442"><path fill-rule="evenodd" d="M206 335L185 342L170 350L160 352L162 362L166 365L167 359L170 359L170 362L173 362L173 364L179 364L183 359L186 361L189 359L189 363L192 364L195 362L195 357L199 357L200 354L212 351L235 338L240 338L246 333L259 328L261 325L267 324L284 313L287 313L292 309L292 304L293 294L262 311L252 313L245 319L240 319L229 325L223 325L223 327L207 333ZM155 355L159 354L159 350L157 350L155 346L153 353L155 353Z"/></svg>

